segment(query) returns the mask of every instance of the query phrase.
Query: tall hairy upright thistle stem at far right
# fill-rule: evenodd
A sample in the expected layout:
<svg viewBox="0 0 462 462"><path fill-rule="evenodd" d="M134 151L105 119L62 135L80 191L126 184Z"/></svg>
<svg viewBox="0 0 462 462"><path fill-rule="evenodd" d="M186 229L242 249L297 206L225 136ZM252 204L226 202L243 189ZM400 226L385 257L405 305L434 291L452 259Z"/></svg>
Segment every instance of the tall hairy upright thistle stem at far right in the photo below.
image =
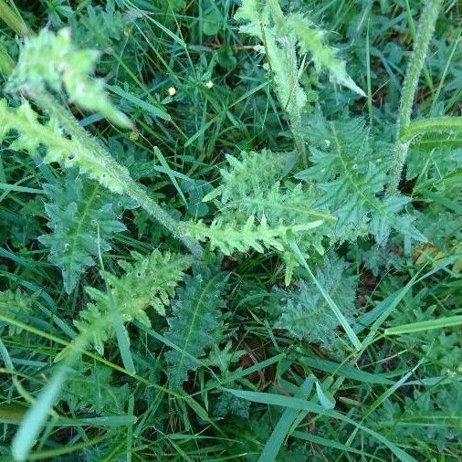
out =
<svg viewBox="0 0 462 462"><path fill-rule="evenodd" d="M409 142L401 142L401 137L411 122L415 91L424 67L428 45L435 32L436 18L442 0L428 0L420 17L419 29L415 39L415 47L409 61L403 84L403 92L398 116L398 129L395 142L395 157L392 167L392 180L388 185L388 194L394 194L403 172L404 163L409 151Z"/></svg>

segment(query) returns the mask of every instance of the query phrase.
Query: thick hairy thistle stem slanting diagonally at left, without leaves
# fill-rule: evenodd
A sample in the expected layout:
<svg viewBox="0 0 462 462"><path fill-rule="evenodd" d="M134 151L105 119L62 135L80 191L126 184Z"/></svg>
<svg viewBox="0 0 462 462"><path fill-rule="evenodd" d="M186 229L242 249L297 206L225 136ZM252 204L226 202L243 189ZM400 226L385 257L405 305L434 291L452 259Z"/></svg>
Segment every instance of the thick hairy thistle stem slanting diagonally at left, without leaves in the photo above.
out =
<svg viewBox="0 0 462 462"><path fill-rule="evenodd" d="M100 142L89 136L89 133L78 125L77 121L68 113L68 110L65 110L45 91L29 89L28 94L51 118L59 121L60 126L68 132L75 142L79 143L87 163L98 165L98 170L103 171L107 178L121 185L118 192L130 196L149 215L170 231L174 237L182 241L194 257L203 257L204 250L202 246L198 241L186 236L182 223L174 220L160 205L153 201L142 187L131 178L128 171L110 156L110 153L106 151ZM101 180L100 183L106 186Z"/></svg>

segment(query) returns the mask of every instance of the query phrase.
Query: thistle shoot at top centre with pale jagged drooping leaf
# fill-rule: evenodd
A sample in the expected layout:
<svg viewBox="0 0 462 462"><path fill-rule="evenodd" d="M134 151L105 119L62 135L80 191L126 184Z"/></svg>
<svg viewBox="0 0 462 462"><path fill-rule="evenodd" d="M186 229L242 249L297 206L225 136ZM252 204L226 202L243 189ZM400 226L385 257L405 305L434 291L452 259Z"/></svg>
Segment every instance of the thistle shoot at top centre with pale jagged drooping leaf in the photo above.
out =
<svg viewBox="0 0 462 462"><path fill-rule="evenodd" d="M346 72L345 62L337 58L337 50L324 43L325 31L308 17L299 14L284 16L278 0L259 2L243 0L235 15L245 23L240 31L257 37L263 45L256 49L265 54L270 78L282 109L287 113L294 142L303 163L307 163L302 114L307 105L305 90L300 84L306 57L314 64L316 73L326 70L331 81L361 96L360 89Z"/></svg>

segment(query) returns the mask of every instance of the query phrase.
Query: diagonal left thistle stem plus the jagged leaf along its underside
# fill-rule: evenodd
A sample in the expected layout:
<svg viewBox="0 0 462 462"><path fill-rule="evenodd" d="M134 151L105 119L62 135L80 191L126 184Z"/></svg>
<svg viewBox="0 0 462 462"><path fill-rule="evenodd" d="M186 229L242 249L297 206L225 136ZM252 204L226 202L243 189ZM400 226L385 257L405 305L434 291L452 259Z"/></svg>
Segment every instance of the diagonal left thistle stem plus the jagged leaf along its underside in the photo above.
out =
<svg viewBox="0 0 462 462"><path fill-rule="evenodd" d="M37 112L24 101L17 109L10 110L6 100L0 100L0 141L9 131L17 131L18 137L11 143L14 150L25 150L35 156L40 146L47 148L45 163L63 163L65 167L77 166L79 172L89 175L113 193L126 194L148 214L166 227L196 257L203 256L198 242L184 236L182 226L146 194L140 184L131 179L126 167L117 163L100 142L95 141L77 124L47 92L35 91L37 104L50 116L47 125L38 122ZM66 132L71 136L69 139Z"/></svg>

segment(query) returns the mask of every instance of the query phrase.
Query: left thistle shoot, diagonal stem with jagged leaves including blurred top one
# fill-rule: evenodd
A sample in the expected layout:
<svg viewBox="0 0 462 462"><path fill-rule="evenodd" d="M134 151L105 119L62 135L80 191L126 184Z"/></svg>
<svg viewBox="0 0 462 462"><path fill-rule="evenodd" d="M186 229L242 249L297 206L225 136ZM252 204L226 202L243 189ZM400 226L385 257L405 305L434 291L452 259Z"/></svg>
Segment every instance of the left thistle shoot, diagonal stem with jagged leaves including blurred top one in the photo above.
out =
<svg viewBox="0 0 462 462"><path fill-rule="evenodd" d="M59 105L47 91L47 87L58 91L63 85L70 100L82 105L84 109L98 110L111 121L123 127L131 127L131 121L110 103L103 91L102 82L88 77L97 57L98 53L91 50L75 50L66 29L58 35L43 30L37 37L27 38L6 89L26 94L47 113L49 120L46 124L38 121L37 112L27 101L19 109L9 109L6 101L2 100L0 118L3 125L0 137L3 139L9 131L16 130L18 138L12 144L14 149L35 155L37 148L43 145L47 147L45 162L62 163L65 167L76 166L81 173L96 179L111 192L129 195L173 236L180 239L195 257L201 257L202 248L197 241L185 236L182 225L164 212L131 179L128 170L112 159L100 142L79 127L68 110Z"/></svg>

